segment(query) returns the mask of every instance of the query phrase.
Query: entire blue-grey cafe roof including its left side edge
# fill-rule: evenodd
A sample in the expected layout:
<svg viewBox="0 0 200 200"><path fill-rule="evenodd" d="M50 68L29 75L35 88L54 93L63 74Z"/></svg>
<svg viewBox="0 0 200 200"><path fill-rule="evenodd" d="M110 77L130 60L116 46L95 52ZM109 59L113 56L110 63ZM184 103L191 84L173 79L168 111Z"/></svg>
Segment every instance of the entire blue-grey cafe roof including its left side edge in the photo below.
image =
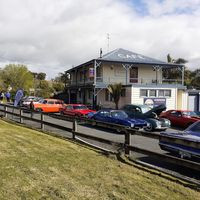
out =
<svg viewBox="0 0 200 200"><path fill-rule="evenodd" d="M104 61L104 62L116 62L116 63L124 63L124 64L146 64L146 65L161 65L164 67L182 67L181 64L172 64L167 63L164 61L160 61L154 58L150 58L141 54L134 53L132 51L128 51L122 48L115 49L113 51L108 52L107 54L103 55L102 57L92 59L86 63L78 65L68 71L74 70L76 68L82 67L83 65L88 65L97 61Z"/></svg>

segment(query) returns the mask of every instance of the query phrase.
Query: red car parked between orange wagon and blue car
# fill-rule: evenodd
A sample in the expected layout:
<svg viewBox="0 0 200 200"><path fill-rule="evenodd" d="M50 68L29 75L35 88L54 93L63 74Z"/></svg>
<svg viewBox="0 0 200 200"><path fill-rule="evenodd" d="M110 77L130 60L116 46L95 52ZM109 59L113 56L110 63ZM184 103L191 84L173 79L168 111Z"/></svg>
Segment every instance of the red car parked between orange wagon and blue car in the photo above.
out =
<svg viewBox="0 0 200 200"><path fill-rule="evenodd" d="M67 104L60 108L60 113L64 115L71 116L87 116L88 113L96 112L95 110L90 110L87 106L83 104Z"/></svg>

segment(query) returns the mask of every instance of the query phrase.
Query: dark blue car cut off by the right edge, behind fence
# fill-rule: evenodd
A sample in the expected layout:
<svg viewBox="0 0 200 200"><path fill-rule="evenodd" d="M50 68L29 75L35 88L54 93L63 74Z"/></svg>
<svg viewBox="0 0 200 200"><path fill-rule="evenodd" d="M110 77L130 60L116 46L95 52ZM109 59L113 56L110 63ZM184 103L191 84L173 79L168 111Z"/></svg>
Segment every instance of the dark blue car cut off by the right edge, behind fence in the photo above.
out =
<svg viewBox="0 0 200 200"><path fill-rule="evenodd" d="M200 144L200 121L193 123L190 125L185 131L182 132L162 132L161 135L164 136L172 136L175 138L184 139L186 141L195 141ZM167 141L165 138L161 138L159 140L159 145L162 150L179 154L183 157L197 157L200 158L200 149L189 147L187 145L183 145L178 143L176 140L173 142Z"/></svg>

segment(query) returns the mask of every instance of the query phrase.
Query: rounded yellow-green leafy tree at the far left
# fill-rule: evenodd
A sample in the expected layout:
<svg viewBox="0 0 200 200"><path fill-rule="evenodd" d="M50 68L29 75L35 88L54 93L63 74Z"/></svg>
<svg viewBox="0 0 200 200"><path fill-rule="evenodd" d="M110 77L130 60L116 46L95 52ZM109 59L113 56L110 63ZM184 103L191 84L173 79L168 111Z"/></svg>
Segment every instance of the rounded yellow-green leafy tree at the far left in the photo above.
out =
<svg viewBox="0 0 200 200"><path fill-rule="evenodd" d="M13 91L19 88L29 91L33 87L33 75L25 65L9 64L0 72L5 89L11 87Z"/></svg>

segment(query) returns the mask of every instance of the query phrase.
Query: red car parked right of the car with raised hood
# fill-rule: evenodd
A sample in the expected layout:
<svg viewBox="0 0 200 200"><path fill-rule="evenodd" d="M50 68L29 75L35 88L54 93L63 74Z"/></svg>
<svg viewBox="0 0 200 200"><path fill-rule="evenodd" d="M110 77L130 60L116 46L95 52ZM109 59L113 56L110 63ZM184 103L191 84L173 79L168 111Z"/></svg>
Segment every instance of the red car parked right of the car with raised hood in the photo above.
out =
<svg viewBox="0 0 200 200"><path fill-rule="evenodd" d="M160 117L167 118L171 121L172 125L183 128L200 120L200 117L195 112L188 110L168 110L161 113Z"/></svg>

